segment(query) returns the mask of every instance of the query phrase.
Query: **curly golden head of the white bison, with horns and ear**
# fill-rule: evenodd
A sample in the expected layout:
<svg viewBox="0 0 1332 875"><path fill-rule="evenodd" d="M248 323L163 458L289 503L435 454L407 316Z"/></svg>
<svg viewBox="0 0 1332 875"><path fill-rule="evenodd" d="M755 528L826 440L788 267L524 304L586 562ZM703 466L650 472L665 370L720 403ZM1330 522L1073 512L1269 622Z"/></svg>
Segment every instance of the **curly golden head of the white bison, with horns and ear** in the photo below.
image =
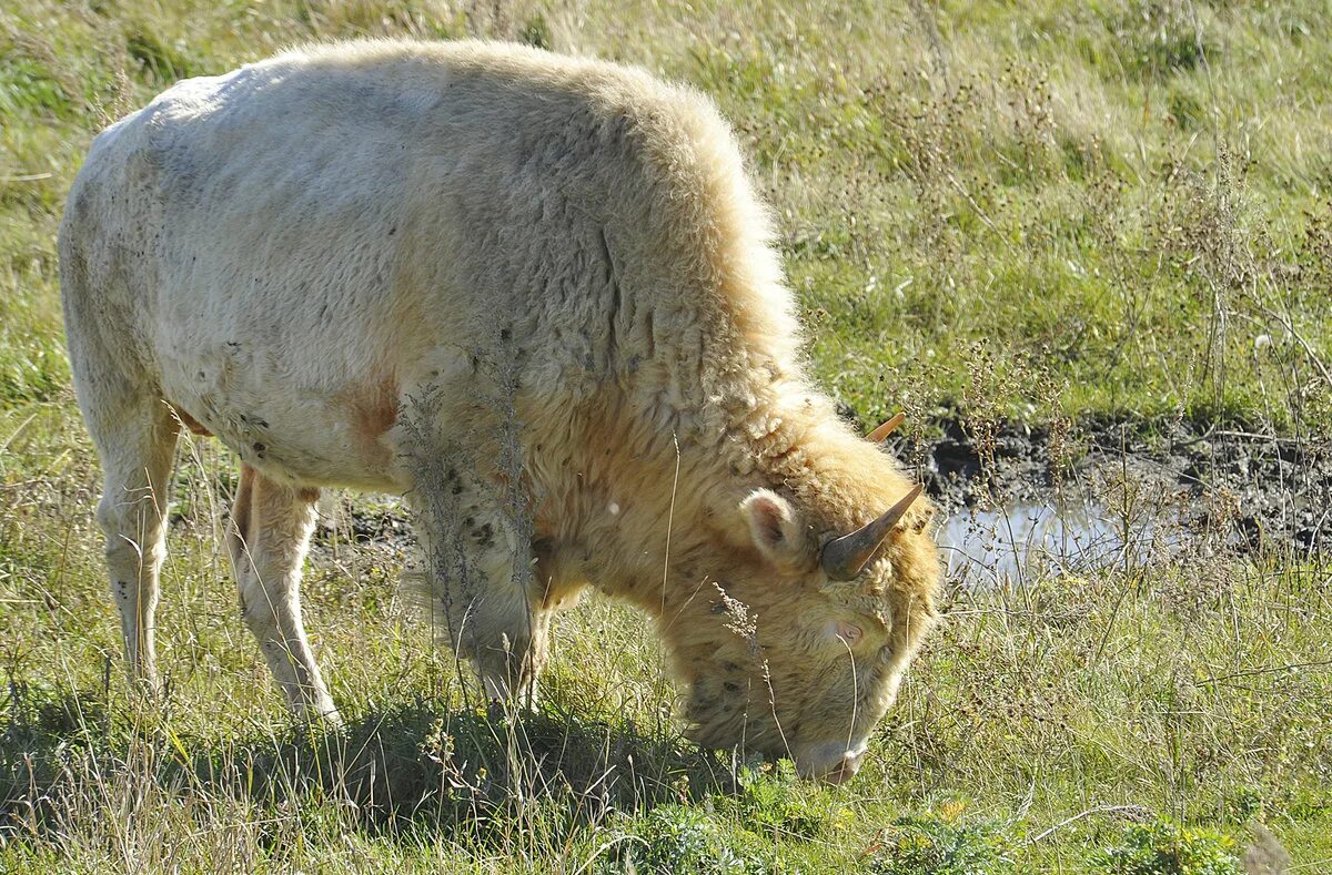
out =
<svg viewBox="0 0 1332 875"><path fill-rule="evenodd" d="M791 757L801 774L834 783L859 767L934 625L940 576L920 488L860 447L883 473L856 487L879 501L872 516L751 489L715 515L726 519L701 557L715 573L695 580L695 606L665 629L695 741Z"/></svg>

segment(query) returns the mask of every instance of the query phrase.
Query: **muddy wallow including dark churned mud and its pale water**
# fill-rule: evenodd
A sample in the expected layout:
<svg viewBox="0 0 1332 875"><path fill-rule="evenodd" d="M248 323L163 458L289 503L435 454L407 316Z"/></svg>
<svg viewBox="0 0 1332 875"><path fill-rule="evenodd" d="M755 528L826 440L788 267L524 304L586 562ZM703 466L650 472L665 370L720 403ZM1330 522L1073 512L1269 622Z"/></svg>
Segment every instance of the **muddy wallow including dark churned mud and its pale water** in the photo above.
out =
<svg viewBox="0 0 1332 875"><path fill-rule="evenodd" d="M1052 441L1011 424L980 452L963 423L942 428L928 441L892 439L890 451L939 504L939 545L962 585L1332 549L1325 440L1110 423ZM1055 443L1072 451L1052 457Z"/></svg>

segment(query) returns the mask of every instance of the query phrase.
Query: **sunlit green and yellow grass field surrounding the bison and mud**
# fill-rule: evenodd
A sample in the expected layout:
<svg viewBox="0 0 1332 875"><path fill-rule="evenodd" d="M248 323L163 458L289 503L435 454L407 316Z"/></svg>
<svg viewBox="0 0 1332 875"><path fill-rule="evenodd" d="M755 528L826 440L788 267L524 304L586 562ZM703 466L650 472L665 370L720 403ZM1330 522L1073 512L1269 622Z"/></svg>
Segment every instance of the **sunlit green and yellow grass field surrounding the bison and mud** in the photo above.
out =
<svg viewBox="0 0 1332 875"><path fill-rule="evenodd" d="M478 711L396 596L401 541L365 537L392 508L338 496L304 589L349 727L312 737L238 617L234 463L198 440L159 612L169 694L140 707L55 257L92 136L176 78L313 39L523 40L717 100L813 367L859 419L1325 447L1329 19L1295 0L0 0L0 868L1332 871L1319 557L950 592L871 762L827 789L683 742L650 630L599 601L561 618L538 713Z"/></svg>

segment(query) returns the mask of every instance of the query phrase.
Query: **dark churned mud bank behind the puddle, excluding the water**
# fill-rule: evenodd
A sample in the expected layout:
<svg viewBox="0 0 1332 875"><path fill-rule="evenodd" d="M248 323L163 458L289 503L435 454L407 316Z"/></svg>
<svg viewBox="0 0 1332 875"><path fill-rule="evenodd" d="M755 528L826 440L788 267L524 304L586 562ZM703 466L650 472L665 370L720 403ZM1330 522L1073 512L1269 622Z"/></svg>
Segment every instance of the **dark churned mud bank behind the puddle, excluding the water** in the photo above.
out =
<svg viewBox="0 0 1332 875"><path fill-rule="evenodd" d="M950 513L1082 503L1126 517L1168 517L1239 551L1329 547L1327 440L1135 422L1086 423L1056 435L1008 423L990 434L951 420L940 438L894 436L890 448Z"/></svg>

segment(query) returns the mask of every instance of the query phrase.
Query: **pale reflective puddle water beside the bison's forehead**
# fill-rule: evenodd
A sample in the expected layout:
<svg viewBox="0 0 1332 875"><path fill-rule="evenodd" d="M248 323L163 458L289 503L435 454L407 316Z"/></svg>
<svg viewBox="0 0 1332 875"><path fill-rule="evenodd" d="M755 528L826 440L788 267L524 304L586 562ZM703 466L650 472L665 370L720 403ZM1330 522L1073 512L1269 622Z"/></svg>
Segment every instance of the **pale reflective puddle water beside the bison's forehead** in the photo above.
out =
<svg viewBox="0 0 1332 875"><path fill-rule="evenodd" d="M1014 504L954 512L939 532L948 578L964 586L1022 584L1180 553L1177 517L1124 519L1096 504Z"/></svg>

